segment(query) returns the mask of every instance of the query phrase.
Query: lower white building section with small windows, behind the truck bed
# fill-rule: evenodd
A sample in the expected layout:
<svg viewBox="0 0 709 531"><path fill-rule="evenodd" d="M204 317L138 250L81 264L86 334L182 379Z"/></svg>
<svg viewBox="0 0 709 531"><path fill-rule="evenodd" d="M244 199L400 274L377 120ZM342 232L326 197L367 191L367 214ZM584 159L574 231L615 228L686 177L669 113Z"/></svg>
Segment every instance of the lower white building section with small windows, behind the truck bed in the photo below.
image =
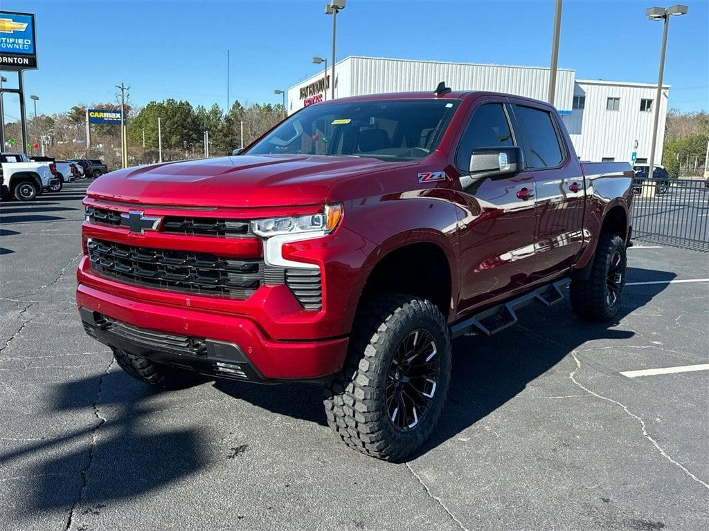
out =
<svg viewBox="0 0 709 531"><path fill-rule="evenodd" d="M660 164L662 160L669 85L663 89L655 164ZM653 100L652 105L655 105L656 90L657 86L652 84L576 80L574 94L586 97L585 108L574 109L570 115L562 116L562 119L581 159L600 161L613 158L616 161L630 161L633 151L637 151L637 158L649 159L654 107L649 111L641 111L640 100ZM608 98L620 98L618 110L606 110ZM637 150L634 149L636 140Z"/></svg>

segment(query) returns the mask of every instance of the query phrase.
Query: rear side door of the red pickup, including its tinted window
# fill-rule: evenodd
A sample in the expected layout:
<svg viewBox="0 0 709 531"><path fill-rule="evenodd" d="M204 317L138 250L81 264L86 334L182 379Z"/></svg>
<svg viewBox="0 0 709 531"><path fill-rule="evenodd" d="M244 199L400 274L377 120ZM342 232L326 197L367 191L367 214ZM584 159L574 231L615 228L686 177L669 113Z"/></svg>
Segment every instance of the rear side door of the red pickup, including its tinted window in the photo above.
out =
<svg viewBox="0 0 709 531"><path fill-rule="evenodd" d="M527 101L512 105L525 153L527 176L536 188L535 270L542 280L571 267L584 241L584 176L557 113Z"/></svg>

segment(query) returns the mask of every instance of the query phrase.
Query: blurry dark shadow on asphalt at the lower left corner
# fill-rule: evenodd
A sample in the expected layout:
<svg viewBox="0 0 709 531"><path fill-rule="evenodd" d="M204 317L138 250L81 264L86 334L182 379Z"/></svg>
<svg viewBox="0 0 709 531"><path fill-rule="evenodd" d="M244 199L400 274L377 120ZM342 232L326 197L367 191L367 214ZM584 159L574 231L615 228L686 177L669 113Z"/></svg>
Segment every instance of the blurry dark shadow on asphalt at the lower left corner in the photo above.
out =
<svg viewBox="0 0 709 531"><path fill-rule="evenodd" d="M155 409L145 401L157 393L115 369L55 386L48 414L81 414L85 425L86 411L93 411L94 423L0 454L1 467L19 466L22 471L14 475L26 478L16 484L18 509L36 515L38 510L73 509L80 501L88 513L101 503L154 491L205 467L210 461L202 450L206 434L150 426Z"/></svg>

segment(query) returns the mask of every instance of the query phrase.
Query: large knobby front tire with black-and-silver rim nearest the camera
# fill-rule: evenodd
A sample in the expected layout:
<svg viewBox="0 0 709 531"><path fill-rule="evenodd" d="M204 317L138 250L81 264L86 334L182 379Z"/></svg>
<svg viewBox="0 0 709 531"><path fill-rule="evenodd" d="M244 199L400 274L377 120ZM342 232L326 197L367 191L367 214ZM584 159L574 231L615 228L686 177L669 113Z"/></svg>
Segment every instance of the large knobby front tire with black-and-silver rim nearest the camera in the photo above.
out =
<svg viewBox="0 0 709 531"><path fill-rule="evenodd" d="M435 428L450 372L450 334L432 302L369 299L355 319L345 367L325 387L328 424L359 452L400 461Z"/></svg>

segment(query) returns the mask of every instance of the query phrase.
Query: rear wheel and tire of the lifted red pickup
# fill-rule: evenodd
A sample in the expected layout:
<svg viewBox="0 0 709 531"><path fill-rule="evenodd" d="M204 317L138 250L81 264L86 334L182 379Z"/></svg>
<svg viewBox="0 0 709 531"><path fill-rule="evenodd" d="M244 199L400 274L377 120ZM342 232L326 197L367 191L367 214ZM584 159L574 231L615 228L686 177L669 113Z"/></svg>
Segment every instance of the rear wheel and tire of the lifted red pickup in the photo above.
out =
<svg viewBox="0 0 709 531"><path fill-rule="evenodd" d="M601 234L588 280L571 280L571 307L590 321L610 321L620 309L625 290L625 241Z"/></svg>

